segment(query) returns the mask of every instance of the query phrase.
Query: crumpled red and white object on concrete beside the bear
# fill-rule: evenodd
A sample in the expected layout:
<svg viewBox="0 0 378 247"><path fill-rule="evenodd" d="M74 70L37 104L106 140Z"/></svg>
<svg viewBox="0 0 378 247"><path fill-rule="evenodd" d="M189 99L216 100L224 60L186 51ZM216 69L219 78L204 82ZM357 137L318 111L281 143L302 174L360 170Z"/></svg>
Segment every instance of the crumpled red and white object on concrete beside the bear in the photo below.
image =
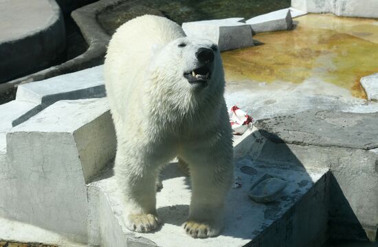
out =
<svg viewBox="0 0 378 247"><path fill-rule="evenodd" d="M248 128L252 128L252 117L247 115L244 110L238 106L232 106L228 111L232 134L243 134Z"/></svg>

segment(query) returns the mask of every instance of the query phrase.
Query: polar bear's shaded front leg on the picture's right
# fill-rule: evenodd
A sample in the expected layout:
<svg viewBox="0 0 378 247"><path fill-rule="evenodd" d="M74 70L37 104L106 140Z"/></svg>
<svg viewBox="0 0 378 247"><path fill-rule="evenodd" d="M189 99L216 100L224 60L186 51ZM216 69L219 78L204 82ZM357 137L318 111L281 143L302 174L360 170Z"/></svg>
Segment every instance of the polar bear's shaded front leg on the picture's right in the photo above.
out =
<svg viewBox="0 0 378 247"><path fill-rule="evenodd" d="M223 228L225 198L233 179L232 145L224 148L223 145L214 150L195 148L186 152L192 198L183 226L192 237L216 237Z"/></svg>

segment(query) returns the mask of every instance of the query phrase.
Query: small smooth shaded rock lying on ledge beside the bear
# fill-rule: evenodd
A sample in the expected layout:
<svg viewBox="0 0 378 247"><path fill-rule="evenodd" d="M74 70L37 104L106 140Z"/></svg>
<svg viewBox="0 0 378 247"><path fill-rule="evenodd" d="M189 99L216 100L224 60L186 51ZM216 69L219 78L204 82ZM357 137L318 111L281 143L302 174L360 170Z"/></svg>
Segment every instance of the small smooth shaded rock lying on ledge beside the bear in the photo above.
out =
<svg viewBox="0 0 378 247"><path fill-rule="evenodd" d="M287 181L265 174L249 189L249 197L255 202L273 202L286 185Z"/></svg>

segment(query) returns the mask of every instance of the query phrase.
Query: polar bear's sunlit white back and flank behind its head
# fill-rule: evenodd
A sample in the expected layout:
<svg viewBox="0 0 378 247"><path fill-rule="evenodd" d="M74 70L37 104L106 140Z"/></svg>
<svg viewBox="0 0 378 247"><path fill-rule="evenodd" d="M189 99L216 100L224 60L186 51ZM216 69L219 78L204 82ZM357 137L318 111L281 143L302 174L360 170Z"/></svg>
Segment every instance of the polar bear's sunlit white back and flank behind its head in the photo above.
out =
<svg viewBox="0 0 378 247"><path fill-rule="evenodd" d="M116 30L104 63L105 86L113 113L140 97L137 90L144 82L154 47L184 36L177 23L153 15L139 16Z"/></svg>

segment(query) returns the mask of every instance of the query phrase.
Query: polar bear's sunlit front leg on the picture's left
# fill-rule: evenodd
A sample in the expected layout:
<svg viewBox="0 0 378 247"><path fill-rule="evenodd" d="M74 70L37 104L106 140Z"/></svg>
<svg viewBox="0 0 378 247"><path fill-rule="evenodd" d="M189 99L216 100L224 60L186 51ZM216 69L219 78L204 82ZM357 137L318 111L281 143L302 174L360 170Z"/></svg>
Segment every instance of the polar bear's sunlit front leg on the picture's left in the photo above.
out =
<svg viewBox="0 0 378 247"><path fill-rule="evenodd" d="M124 223L131 231L155 231L161 224L156 211L158 165L144 154L130 154L125 150L118 146L114 166L124 206Z"/></svg>

